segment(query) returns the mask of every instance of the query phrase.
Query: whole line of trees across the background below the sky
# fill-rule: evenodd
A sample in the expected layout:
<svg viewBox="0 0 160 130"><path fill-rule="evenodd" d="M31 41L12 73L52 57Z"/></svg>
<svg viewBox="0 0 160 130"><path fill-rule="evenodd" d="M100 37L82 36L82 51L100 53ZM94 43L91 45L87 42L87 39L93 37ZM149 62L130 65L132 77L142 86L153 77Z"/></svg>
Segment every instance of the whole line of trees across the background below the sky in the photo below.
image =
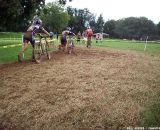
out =
<svg viewBox="0 0 160 130"><path fill-rule="evenodd" d="M54 33L60 33L66 26L75 33L82 32L88 21L94 33L107 33L112 38L160 38L160 22L155 24L146 17L105 21L102 14L96 18L87 8L66 8L65 4L69 1L58 0L45 4L45 0L0 0L0 31L25 31L33 16L38 15L43 25Z"/></svg>

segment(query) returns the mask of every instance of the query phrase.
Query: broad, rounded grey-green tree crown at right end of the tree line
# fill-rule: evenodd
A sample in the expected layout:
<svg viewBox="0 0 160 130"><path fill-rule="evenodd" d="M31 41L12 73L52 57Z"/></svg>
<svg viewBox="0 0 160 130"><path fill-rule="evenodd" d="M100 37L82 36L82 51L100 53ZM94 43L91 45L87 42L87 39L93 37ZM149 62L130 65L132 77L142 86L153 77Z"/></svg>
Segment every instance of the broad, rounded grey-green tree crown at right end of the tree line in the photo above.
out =
<svg viewBox="0 0 160 130"><path fill-rule="evenodd" d="M116 22L115 33L120 38L140 39L156 33L155 24L145 17L129 17Z"/></svg>

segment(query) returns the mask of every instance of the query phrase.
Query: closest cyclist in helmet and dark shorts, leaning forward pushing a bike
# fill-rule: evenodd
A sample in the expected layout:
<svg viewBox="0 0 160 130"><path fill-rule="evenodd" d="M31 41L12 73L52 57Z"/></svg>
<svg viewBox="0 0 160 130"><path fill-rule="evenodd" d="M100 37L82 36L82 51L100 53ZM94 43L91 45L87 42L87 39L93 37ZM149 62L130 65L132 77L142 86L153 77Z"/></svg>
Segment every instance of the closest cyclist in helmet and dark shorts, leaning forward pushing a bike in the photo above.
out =
<svg viewBox="0 0 160 130"><path fill-rule="evenodd" d="M32 61L35 60L35 33L42 30L45 34L48 36L51 36L50 33L48 33L43 27L42 27L42 21L40 19L35 19L31 26L27 29L26 33L23 35L23 47L21 51L18 53L18 61L22 61L22 54L26 51L28 48L28 43L30 42L32 45Z"/></svg>

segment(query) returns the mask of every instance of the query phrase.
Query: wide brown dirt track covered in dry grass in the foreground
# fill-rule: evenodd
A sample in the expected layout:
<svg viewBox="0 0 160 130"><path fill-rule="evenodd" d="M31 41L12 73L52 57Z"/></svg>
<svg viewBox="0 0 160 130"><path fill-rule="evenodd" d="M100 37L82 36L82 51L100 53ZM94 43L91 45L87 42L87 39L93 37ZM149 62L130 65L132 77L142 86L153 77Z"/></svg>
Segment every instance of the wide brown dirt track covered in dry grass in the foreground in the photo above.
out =
<svg viewBox="0 0 160 130"><path fill-rule="evenodd" d="M0 66L0 129L101 130L138 126L160 86L160 60L129 51L76 48L41 64Z"/></svg>

